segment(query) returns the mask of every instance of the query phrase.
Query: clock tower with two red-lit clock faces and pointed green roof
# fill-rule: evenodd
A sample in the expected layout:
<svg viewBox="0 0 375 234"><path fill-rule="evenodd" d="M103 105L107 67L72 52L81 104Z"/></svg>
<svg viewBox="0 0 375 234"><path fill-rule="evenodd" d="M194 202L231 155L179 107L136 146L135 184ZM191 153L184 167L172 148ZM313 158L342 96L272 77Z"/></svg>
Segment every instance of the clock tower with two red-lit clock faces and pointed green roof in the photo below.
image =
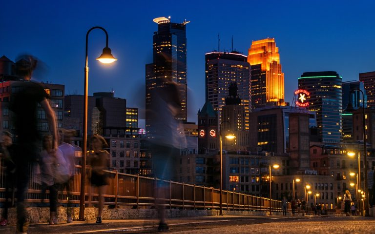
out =
<svg viewBox="0 0 375 234"><path fill-rule="evenodd" d="M216 151L218 145L217 112L207 101L198 111L198 154Z"/></svg>

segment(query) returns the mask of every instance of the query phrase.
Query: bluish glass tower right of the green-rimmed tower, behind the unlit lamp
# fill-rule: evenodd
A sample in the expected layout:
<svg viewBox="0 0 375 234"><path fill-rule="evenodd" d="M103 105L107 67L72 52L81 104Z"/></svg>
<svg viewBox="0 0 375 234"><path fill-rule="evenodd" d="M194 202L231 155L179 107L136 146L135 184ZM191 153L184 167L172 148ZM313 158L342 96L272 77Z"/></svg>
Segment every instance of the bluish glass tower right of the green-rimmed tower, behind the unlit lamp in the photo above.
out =
<svg viewBox="0 0 375 234"><path fill-rule="evenodd" d="M362 94L354 89L362 90L365 95L363 100ZM362 81L342 82L342 108L345 110L348 103L352 103L354 109L358 109L363 105L367 107L367 95ZM353 114L342 113L342 140L344 142L353 142Z"/></svg>

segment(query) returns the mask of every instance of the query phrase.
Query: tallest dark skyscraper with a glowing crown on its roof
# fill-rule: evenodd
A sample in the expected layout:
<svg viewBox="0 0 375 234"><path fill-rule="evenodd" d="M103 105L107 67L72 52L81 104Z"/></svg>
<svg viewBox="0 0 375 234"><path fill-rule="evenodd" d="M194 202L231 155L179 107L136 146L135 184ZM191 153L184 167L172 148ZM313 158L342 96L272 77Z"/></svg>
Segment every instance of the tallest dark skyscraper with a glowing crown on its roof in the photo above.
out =
<svg viewBox="0 0 375 234"><path fill-rule="evenodd" d="M146 131L152 128L152 119L147 110L154 104L158 91L166 82L177 83L181 109L175 115L177 120L187 120L187 39L186 24L172 23L165 17L153 20L158 31L153 36L153 62L146 64ZM161 109L164 107L160 107Z"/></svg>

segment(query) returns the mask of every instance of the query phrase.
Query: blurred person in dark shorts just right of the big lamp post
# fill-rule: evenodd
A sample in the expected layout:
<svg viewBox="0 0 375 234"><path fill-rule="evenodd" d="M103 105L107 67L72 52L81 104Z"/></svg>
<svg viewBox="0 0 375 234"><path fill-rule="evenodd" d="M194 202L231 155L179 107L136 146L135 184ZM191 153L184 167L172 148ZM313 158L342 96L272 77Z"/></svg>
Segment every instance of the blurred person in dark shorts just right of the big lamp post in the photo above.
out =
<svg viewBox="0 0 375 234"><path fill-rule="evenodd" d="M107 185L107 181L104 176L104 170L109 167L109 153L103 149L108 147L105 139L100 135L93 135L90 139L91 150L88 152L87 160L88 165L91 166L91 185L98 188L98 200L99 209L96 223L102 223L102 212L103 212L103 193L104 186ZM91 193L89 201L91 201Z"/></svg>

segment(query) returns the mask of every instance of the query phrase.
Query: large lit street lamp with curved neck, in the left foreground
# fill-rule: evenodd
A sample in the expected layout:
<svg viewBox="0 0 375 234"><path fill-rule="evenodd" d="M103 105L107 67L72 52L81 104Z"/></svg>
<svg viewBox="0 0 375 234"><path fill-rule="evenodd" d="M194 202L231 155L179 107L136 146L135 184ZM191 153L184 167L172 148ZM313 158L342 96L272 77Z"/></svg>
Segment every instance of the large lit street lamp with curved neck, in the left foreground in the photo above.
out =
<svg viewBox="0 0 375 234"><path fill-rule="evenodd" d="M84 97L83 97L83 139L82 139L82 169L81 169L81 191L80 191L80 216L79 220L84 220L84 201L85 201L85 176L86 176L86 152L87 152L87 92L88 92L88 34L94 29L101 29L105 33L105 47L101 56L97 58L102 63L112 63L116 61L108 48L108 33L104 28L96 26L90 28L86 33L86 63L84 67Z"/></svg>

